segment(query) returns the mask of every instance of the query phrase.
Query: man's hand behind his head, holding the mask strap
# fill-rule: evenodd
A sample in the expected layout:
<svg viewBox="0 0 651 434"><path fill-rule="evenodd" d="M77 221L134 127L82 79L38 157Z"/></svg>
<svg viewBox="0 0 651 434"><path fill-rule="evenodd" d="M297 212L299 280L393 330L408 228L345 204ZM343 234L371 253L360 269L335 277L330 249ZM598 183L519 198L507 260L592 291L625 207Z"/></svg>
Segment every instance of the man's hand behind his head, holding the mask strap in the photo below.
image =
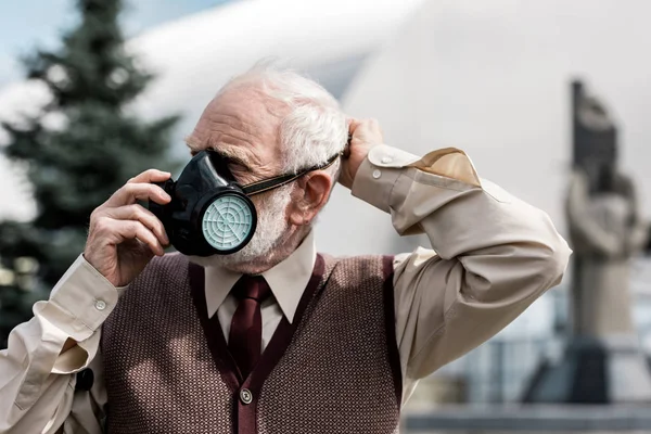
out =
<svg viewBox="0 0 651 434"><path fill-rule="evenodd" d="M342 159L340 183L353 188L355 175L366 159L371 148L384 143L382 129L375 119L350 119L350 146Z"/></svg>

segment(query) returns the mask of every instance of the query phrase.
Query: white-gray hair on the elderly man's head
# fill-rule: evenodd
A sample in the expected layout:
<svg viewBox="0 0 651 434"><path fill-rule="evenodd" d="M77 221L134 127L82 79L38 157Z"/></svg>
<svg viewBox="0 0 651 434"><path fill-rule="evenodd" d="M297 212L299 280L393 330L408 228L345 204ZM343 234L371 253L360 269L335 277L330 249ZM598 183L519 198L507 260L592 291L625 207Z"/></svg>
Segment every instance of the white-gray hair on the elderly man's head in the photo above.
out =
<svg viewBox="0 0 651 434"><path fill-rule="evenodd" d="M265 61L231 79L220 93L243 85L259 86L265 95L290 108L279 127L284 173L323 165L346 145L346 115L336 99L316 81ZM335 180L339 169L339 161L328 169Z"/></svg>

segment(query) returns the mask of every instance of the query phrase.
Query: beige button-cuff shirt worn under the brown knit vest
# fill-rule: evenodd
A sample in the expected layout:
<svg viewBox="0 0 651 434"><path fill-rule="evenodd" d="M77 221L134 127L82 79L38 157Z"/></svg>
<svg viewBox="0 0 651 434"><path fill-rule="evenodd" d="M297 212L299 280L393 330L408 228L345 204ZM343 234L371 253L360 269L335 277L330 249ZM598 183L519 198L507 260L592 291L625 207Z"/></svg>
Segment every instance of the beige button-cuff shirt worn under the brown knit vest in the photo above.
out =
<svg viewBox="0 0 651 434"><path fill-rule="evenodd" d="M376 146L353 194L390 213L398 233L426 233L434 248L419 247L394 264L404 401L419 379L495 335L558 284L567 265L571 251L549 217L481 180L456 149L419 159ZM282 316L293 320L315 255L309 235L264 273L273 297L263 307L263 346ZM206 302L225 336L237 307L229 295L237 279L207 267ZM79 256L50 299L35 305L35 317L13 330L9 348L0 352L0 433L101 432L106 403L101 326L120 291ZM78 345L61 355L68 337ZM75 393L75 372L87 367L94 384Z"/></svg>

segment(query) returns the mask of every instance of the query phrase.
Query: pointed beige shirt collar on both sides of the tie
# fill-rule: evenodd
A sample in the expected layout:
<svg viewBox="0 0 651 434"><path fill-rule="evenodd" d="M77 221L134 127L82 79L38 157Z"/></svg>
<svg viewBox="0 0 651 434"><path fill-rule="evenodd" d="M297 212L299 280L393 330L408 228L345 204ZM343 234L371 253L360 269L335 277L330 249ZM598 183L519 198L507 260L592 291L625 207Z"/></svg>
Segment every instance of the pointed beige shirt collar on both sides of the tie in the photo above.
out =
<svg viewBox="0 0 651 434"><path fill-rule="evenodd" d="M310 231L298 248L288 258L263 272L263 277L271 288L271 293L290 323L294 320L298 302L301 302L303 292L311 278L316 258L315 237ZM205 267L208 318L212 318L219 309L219 306L241 277L241 273L221 267Z"/></svg>

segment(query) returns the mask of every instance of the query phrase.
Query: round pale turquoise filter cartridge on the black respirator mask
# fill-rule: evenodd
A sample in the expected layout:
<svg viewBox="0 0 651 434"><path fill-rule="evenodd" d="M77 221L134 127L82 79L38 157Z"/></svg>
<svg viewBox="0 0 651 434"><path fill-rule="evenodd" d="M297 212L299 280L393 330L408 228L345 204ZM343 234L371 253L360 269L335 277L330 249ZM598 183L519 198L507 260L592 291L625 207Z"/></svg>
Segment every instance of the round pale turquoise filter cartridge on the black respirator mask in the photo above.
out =
<svg viewBox="0 0 651 434"><path fill-rule="evenodd" d="M238 251L255 230L250 202L235 194L218 196L208 205L202 219L204 239L221 252Z"/></svg>

